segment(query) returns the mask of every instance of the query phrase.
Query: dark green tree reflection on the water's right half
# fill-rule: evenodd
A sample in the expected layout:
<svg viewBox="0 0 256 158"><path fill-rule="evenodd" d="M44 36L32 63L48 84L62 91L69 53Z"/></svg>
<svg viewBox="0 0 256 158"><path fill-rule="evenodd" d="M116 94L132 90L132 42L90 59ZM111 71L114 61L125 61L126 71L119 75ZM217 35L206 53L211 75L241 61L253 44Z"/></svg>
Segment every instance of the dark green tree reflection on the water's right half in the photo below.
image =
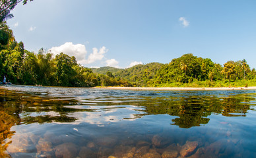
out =
<svg viewBox="0 0 256 158"><path fill-rule="evenodd" d="M230 95L228 97L217 96L187 96L170 97L168 99L152 99L144 102L145 115L168 114L177 116L171 124L180 128L191 128L207 124L207 117L212 113L222 114L226 117L245 117L250 109L249 101L255 100L247 94Z"/></svg>

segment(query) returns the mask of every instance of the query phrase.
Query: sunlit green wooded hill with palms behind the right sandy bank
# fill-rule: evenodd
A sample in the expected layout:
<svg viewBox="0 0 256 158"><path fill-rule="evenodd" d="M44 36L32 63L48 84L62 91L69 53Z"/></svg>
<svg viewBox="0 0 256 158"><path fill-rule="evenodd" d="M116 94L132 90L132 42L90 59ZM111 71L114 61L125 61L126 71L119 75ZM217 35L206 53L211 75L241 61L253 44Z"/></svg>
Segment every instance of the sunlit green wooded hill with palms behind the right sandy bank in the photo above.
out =
<svg viewBox="0 0 256 158"><path fill-rule="evenodd" d="M168 64L149 63L115 72L134 86L222 87L256 86L256 71L242 61L228 61L224 66L193 54L185 54Z"/></svg>

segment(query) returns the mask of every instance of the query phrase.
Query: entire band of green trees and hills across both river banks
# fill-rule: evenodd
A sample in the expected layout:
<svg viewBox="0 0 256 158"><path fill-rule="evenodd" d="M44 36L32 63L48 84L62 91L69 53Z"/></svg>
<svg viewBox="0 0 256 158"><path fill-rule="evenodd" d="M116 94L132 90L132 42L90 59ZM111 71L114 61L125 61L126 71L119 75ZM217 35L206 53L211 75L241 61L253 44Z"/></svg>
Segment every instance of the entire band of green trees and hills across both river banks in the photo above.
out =
<svg viewBox="0 0 256 158"><path fill-rule="evenodd" d="M131 68L86 68L75 57L60 53L55 57L40 49L24 49L6 22L0 23L0 75L13 84L43 86L256 86L255 68L245 59L224 66L210 59L185 54L169 64L149 63ZM1 79L2 80L2 79Z"/></svg>

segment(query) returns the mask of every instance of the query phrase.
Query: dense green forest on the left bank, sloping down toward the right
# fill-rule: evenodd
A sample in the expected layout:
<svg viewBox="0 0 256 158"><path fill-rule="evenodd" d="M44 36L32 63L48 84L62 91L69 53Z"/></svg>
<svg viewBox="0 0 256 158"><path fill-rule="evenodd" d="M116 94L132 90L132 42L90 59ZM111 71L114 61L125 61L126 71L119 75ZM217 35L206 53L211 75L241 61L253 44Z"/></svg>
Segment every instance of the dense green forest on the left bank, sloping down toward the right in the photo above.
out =
<svg viewBox="0 0 256 158"><path fill-rule="evenodd" d="M13 84L43 86L131 86L126 80L96 74L79 65L75 57L60 53L53 57L40 49L38 53L24 49L22 41L15 40L6 22L0 30L0 76Z"/></svg>

